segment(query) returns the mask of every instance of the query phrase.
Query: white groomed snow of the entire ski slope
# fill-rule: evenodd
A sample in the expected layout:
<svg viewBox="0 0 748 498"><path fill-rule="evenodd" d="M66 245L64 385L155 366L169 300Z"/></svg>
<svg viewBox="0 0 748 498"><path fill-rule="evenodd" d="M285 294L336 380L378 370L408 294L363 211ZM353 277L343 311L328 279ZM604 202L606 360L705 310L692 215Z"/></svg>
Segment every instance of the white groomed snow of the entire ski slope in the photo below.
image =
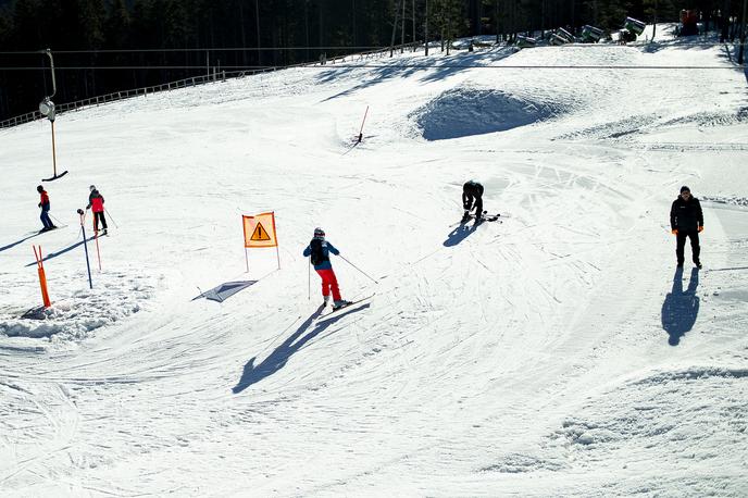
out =
<svg viewBox="0 0 748 498"><path fill-rule="evenodd" d="M746 97L669 38L149 95L59 116L38 236L49 123L0 132L0 495L748 495ZM458 223L470 178L499 221ZM334 314L315 226L361 299Z"/></svg>

